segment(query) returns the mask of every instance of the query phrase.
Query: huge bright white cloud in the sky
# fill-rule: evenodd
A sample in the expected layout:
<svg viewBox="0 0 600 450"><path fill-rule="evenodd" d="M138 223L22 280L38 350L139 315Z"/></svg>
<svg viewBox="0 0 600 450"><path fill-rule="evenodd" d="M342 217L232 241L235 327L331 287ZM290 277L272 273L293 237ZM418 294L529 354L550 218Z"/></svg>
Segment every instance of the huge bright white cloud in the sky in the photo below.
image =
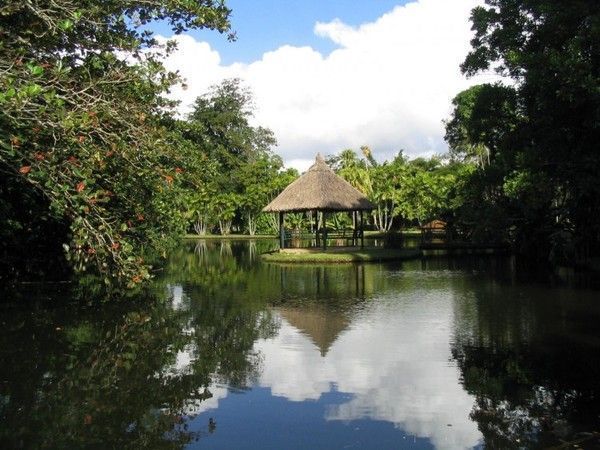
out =
<svg viewBox="0 0 600 450"><path fill-rule="evenodd" d="M359 27L318 22L314 32L338 45L331 54L284 45L250 64L224 66L208 44L178 36L179 48L165 64L187 79L187 90L173 91L184 110L211 84L245 80L256 122L275 132L288 165L304 169L317 152L365 144L379 159L401 148L430 155L446 150L442 120L450 100L481 82L459 70L470 48L468 17L478 3L418 0Z"/></svg>

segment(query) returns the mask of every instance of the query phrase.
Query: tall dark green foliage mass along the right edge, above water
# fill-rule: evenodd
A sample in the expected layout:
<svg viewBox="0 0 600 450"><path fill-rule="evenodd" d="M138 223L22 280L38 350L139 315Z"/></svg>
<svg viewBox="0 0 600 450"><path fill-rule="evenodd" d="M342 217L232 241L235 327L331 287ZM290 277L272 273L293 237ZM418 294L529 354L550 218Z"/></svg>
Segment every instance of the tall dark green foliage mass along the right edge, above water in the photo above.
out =
<svg viewBox="0 0 600 450"><path fill-rule="evenodd" d="M475 86L454 100L446 138L480 166L461 215L497 219L497 234L531 256L586 259L600 252L600 4L486 3L473 10L462 70L495 67L515 87Z"/></svg>

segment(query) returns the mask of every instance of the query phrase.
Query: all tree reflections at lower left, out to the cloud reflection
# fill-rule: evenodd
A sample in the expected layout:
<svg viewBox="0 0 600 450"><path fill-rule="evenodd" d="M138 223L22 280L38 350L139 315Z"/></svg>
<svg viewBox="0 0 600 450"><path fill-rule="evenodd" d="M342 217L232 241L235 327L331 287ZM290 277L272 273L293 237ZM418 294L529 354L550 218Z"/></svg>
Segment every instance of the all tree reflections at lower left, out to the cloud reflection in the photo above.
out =
<svg viewBox="0 0 600 450"><path fill-rule="evenodd" d="M1 448L181 448L196 437L188 412L214 382L254 377L253 343L275 329L239 303L175 310L147 295L13 316L0 333ZM182 370L189 349L197 358Z"/></svg>

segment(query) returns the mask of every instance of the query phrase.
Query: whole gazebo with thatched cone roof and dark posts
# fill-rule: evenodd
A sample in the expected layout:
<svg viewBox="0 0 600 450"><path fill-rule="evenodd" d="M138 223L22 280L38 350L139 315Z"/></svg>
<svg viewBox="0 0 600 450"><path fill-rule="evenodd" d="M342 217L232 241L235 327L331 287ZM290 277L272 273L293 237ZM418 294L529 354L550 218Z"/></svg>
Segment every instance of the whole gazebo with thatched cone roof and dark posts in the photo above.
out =
<svg viewBox="0 0 600 450"><path fill-rule="evenodd" d="M319 245L320 237L322 237L323 248L326 248L328 234L324 224L327 213L352 212L354 219L352 243L356 244L360 239L361 246L363 246L363 211L370 211L373 208L373 204L364 194L346 180L337 176L325 163L323 157L317 154L315 163L308 171L286 187L263 211L279 213L279 242L281 248L285 247L283 219L286 212L314 211L317 215L319 212L322 213L323 228L316 227L315 238L317 245ZM329 237L335 236L329 235Z"/></svg>

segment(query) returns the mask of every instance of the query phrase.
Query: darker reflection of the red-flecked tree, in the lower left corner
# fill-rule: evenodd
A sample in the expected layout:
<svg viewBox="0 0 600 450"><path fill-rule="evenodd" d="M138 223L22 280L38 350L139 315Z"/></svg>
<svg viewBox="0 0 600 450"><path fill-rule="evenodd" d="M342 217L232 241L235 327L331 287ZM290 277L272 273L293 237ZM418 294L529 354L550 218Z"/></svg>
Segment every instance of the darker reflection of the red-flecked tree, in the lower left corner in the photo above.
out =
<svg viewBox="0 0 600 450"><path fill-rule="evenodd" d="M203 376L164 373L186 339L180 317L140 303L72 314L42 308L13 322L19 325L2 334L1 346L10 361L0 368L4 448L178 448L189 441L181 411Z"/></svg>

